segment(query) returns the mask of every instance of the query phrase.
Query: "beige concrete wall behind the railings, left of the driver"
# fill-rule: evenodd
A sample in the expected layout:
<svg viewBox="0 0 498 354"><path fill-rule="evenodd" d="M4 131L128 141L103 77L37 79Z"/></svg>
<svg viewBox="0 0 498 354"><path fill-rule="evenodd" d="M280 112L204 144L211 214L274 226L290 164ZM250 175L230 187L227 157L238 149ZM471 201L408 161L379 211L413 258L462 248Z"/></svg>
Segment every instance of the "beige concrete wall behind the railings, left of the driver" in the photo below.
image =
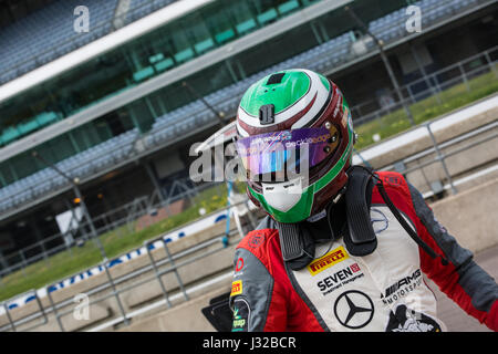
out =
<svg viewBox="0 0 498 354"><path fill-rule="evenodd" d="M235 230L236 223L234 220L230 222L231 230ZM201 232L189 235L188 237L181 238L175 242L168 243L168 250L170 254L179 254L180 252L199 244L200 242L210 240L215 237L218 237L220 235L225 233L226 223L225 222L218 222L214 225L212 227L203 230ZM237 243L237 240L239 239L239 236L232 236L230 237L230 243ZM176 264L179 264L183 261L186 261L188 259L191 259L193 257L199 257L199 260L188 263L184 267L180 267L178 269L178 273L181 278L183 283L188 287L190 284L196 284L197 282L208 279L211 275L216 275L220 272L229 270L231 268L231 262L234 258L234 244L222 248L221 242L216 242L211 246L208 246L206 248L199 249L198 251L190 253L188 256L180 257L175 260ZM159 262L162 260L166 260L167 256L164 250L164 248L157 248L151 251L154 260L156 262ZM163 292L159 287L159 282L157 281L157 278L155 277L154 270L151 269L144 273L142 273L138 277L133 277L129 280L121 281L121 279L134 271L144 269L145 267L151 266L149 257L145 253L142 254L133 261L128 261L125 263L116 264L110 269L111 277L113 278L113 281L116 284L117 290L123 290L126 287L132 285L133 283L137 283L139 281L144 281L144 283L137 288L132 288L128 290L124 290L120 293L120 300L123 304L123 308L125 309L125 312L129 312L135 310L138 305L146 304L151 301L155 301L158 298L163 296ZM159 270L164 270L166 268L169 268L169 264L164 264L158 267ZM149 279L148 281L146 281ZM164 282L164 285L166 288L166 291L168 292L168 296L174 295L175 293L179 292L179 284L177 281L177 278L173 272L166 273L162 275L162 280ZM62 301L68 301L68 304L64 305L62 309L59 309L59 313L68 312L62 316L62 323L65 331L77 331L77 330L85 330L89 326L97 325L98 323L102 323L103 321L108 321L112 317L115 317L116 315L121 315L120 308L116 301L115 296L110 296L105 300L102 300L97 303L92 303L90 305L90 320L75 320L72 315L72 311L76 306L76 303L73 301L74 296L80 293L85 293L90 295L90 301L96 301L97 299L102 299L103 296L110 295L112 293L112 289L103 289L98 290L91 294L91 291L94 289L97 289L101 285L106 284L108 281L105 272L95 274L85 281L81 281L77 283L74 283L73 285L69 288L60 289L55 292L52 292L52 298L55 303L60 303ZM208 291L211 289L207 289ZM198 296L199 293L194 293L193 296ZM178 304L183 302L181 299L177 299L176 301L172 301L173 304ZM45 309L45 312L49 313L49 321L48 323L38 326L34 329L34 331L41 331L41 332L52 332L52 331L60 331L60 326L58 322L54 319L53 313L51 312L51 304L49 299L42 298L40 299L40 302L42 306ZM49 310L49 311L48 311ZM31 301L27 303L25 305L21 308L15 308L13 310L10 310L9 313L13 321L18 321L20 319L24 319L33 313L39 313L40 308L37 303L37 301ZM22 331L23 329L31 327L35 324L40 324L42 322L42 319L37 319L30 322L27 322L25 324L22 324L18 327L19 331ZM0 315L0 325L8 324L9 321L7 316Z"/></svg>

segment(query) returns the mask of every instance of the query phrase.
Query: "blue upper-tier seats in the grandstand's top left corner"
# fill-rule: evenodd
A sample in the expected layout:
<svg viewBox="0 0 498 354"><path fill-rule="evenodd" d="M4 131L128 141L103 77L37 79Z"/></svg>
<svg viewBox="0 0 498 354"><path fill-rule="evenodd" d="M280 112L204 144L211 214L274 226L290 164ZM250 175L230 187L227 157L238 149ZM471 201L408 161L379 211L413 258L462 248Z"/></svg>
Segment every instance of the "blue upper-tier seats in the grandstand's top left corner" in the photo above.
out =
<svg viewBox="0 0 498 354"><path fill-rule="evenodd" d="M178 0L132 0L126 24ZM118 0L59 0L2 29L0 84L44 65L113 31ZM90 12L90 32L73 30L74 8ZM15 55L13 55L15 53Z"/></svg>

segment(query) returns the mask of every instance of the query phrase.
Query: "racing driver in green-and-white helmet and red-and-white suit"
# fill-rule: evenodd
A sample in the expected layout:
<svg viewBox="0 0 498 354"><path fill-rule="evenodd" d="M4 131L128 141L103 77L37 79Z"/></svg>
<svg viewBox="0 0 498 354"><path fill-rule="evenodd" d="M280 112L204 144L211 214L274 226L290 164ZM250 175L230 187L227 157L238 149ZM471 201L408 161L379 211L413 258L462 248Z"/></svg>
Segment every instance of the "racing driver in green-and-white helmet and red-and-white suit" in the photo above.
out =
<svg viewBox="0 0 498 354"><path fill-rule="evenodd" d="M232 331L445 331L423 275L498 329L498 287L404 177L352 166L341 90L309 70L252 84L237 114L249 198L268 216L237 246Z"/></svg>

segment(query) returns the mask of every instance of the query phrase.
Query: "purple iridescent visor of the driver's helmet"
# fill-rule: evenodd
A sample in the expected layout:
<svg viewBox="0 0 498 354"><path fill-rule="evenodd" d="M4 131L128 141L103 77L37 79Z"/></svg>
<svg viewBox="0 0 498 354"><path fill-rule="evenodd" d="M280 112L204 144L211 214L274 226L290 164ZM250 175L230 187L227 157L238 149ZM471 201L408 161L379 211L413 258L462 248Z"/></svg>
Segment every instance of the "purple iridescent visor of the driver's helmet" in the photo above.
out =
<svg viewBox="0 0 498 354"><path fill-rule="evenodd" d="M237 152L249 179L261 180L262 175L286 180L331 156L338 140L339 132L334 125L331 128L300 128L239 139Z"/></svg>

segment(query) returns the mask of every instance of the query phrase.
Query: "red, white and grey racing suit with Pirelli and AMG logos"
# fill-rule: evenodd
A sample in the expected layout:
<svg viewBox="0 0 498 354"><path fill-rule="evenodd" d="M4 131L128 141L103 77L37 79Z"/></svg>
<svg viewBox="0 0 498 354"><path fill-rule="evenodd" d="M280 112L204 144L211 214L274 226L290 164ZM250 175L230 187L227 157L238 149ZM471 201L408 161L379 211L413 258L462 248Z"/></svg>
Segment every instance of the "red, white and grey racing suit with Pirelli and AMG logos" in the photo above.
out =
<svg viewBox="0 0 498 354"><path fill-rule="evenodd" d="M497 331L495 280L439 225L402 175L377 176L418 237L449 263L429 257L408 237L377 187L370 210L377 247L364 257L350 254L338 238L317 244L317 258L304 269L292 270L282 260L276 223L267 217L236 248L229 300L232 331L445 331L423 274L469 315Z"/></svg>

